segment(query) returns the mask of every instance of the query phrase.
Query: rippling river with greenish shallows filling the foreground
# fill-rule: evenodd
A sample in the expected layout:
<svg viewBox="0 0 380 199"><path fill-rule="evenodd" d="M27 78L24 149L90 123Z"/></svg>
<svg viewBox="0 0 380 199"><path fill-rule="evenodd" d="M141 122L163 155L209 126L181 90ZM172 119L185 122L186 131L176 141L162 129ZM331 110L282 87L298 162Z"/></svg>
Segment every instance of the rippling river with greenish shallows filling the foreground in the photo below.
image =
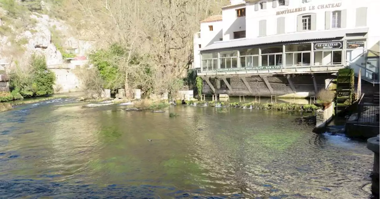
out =
<svg viewBox="0 0 380 199"><path fill-rule="evenodd" d="M314 134L294 122L299 115L84 104L56 99L0 113L2 198L370 197L366 143Z"/></svg>

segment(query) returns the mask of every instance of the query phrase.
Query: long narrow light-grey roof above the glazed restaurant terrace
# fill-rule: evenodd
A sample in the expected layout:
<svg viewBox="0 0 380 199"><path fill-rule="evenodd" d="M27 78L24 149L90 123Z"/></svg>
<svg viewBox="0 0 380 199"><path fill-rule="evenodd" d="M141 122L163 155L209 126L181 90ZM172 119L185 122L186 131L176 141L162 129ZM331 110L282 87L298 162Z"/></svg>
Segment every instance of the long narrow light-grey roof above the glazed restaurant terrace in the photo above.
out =
<svg viewBox="0 0 380 199"><path fill-rule="evenodd" d="M200 51L222 49L222 48L236 48L242 46L255 46L268 43L280 43L289 41L306 41L345 37L347 33L366 33L368 28L358 29L338 29L338 30L320 30L314 32L297 32L285 35L274 35L268 37L258 37L253 39L236 39L230 41L217 41L209 46L201 48Z"/></svg>

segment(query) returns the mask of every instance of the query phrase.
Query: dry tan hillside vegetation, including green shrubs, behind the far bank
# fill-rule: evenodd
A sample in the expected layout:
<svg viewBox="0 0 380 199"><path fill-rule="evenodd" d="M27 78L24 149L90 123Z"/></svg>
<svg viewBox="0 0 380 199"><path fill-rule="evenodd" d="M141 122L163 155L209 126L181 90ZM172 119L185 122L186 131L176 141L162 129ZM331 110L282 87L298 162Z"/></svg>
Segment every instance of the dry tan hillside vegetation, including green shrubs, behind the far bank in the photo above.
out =
<svg viewBox="0 0 380 199"><path fill-rule="evenodd" d="M146 94L186 86L193 61L193 34L199 21L220 13L228 0L0 0L2 21L27 27L30 13L48 14L71 25L75 34L95 40L89 55L94 69L82 75L87 89L142 89ZM29 13L29 14L28 14ZM25 26L26 25L26 26ZM0 27L1 28L1 27ZM0 29L0 34L12 31ZM52 36L53 37L53 36ZM58 48L57 48L58 49Z"/></svg>

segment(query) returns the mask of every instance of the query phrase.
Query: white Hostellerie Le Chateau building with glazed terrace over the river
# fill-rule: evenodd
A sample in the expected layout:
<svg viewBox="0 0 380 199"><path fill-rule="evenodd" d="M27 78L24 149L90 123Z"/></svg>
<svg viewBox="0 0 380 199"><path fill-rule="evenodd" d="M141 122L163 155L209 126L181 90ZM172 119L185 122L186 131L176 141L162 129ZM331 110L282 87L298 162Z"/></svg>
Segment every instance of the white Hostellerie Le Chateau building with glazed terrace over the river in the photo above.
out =
<svg viewBox="0 0 380 199"><path fill-rule="evenodd" d="M194 37L194 65L206 81L351 67L363 80L380 83L380 0L230 2L221 16L202 21Z"/></svg>

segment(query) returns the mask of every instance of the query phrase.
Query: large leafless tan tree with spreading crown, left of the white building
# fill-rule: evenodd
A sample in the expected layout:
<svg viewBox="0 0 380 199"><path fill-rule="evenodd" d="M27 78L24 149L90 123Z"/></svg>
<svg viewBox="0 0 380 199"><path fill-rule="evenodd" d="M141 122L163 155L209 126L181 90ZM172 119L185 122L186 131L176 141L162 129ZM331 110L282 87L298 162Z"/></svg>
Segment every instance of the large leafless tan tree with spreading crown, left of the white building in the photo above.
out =
<svg viewBox="0 0 380 199"><path fill-rule="evenodd" d="M81 26L92 30L103 45L127 49L113 60L130 88L151 88L157 94L181 89L193 60L193 33L199 21L220 12L226 0L77 0ZM90 24L90 26L89 26ZM79 26L78 26L79 27ZM135 57L143 57L133 62ZM150 75L144 73L150 65ZM152 75L153 74L153 75Z"/></svg>

